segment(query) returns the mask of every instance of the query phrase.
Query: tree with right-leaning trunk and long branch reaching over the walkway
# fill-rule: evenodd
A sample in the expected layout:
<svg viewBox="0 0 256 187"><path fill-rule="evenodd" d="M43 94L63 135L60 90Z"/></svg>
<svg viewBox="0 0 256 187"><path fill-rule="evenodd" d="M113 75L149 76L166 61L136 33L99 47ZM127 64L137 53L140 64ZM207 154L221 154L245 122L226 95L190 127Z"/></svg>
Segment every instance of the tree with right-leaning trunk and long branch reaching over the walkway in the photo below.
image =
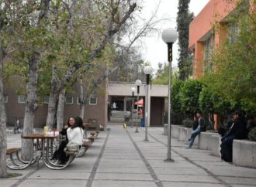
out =
<svg viewBox="0 0 256 187"><path fill-rule="evenodd" d="M106 48L106 45L111 41L114 35L117 32L119 32L119 30L125 24L127 19L130 19L132 13L137 7L137 4L131 1L120 2L120 1L111 0L109 2L101 2L101 1L95 1L95 2L98 3L97 4L98 6L95 8L99 8L99 10L102 11L102 12L99 12L98 19L99 18L102 18L102 19L97 25L95 25L98 29L96 32L97 36L95 35L92 35L92 36L98 37L97 39L99 39L99 41L96 42L95 45L93 45L92 49L84 50L84 53L86 53L86 56L79 56L79 53L82 53L83 51L79 51L80 46L78 45L74 46L74 48L78 46L77 48L78 51L77 53L75 53L75 55L83 58L81 59L69 58L69 60L71 60L72 62L71 66L67 69L66 73L64 73L61 77L57 75L57 66L53 66L51 88L50 88L50 99L49 99L48 114L47 114L47 125L50 126L50 128L52 128L54 124L54 116L57 111L57 105L56 105L57 98L61 90L71 80L71 78L74 76L74 73L78 72L78 70L80 70L81 67L84 67L86 69L86 68L92 68L95 65L93 63L95 58L101 55L102 50ZM74 5L74 2L73 2L73 5ZM71 20L73 20L73 16L75 13L74 11L72 11L72 8L75 8L75 6L67 5L67 10L70 16L69 19ZM102 17L102 15L104 14L106 19L103 19ZM90 21L92 22L92 20ZM84 26L84 24L75 25L75 26L78 26L78 27ZM70 36L74 37L73 35L70 35ZM72 47L73 46L71 46L71 49ZM74 51L72 52L74 53Z"/></svg>

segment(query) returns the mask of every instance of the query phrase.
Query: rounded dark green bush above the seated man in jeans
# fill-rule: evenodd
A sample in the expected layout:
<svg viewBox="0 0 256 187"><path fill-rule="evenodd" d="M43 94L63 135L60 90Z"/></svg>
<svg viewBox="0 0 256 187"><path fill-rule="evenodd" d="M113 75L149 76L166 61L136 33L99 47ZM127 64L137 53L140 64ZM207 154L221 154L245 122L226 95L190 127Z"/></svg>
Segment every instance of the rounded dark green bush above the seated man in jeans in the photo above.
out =
<svg viewBox="0 0 256 187"><path fill-rule="evenodd" d="M180 90L181 109L185 114L194 114L199 109L199 93L202 83L199 80L187 80Z"/></svg>

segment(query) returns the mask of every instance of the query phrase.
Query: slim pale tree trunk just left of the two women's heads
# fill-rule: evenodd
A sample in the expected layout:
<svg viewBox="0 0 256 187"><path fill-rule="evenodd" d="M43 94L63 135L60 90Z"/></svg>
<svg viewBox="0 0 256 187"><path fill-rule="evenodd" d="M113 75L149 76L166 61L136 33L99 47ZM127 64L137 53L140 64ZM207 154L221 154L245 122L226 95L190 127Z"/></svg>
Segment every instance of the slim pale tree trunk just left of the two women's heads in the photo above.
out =
<svg viewBox="0 0 256 187"><path fill-rule="evenodd" d="M62 91L59 95L59 102L57 105L57 131L61 131L64 127L64 103L65 91Z"/></svg>

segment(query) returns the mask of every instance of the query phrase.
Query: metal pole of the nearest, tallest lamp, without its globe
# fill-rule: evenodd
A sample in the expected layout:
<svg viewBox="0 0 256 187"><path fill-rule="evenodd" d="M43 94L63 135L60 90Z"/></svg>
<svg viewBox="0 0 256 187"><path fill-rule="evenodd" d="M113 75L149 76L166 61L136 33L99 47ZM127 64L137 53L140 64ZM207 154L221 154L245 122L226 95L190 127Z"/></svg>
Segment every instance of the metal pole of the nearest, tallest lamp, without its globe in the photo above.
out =
<svg viewBox="0 0 256 187"><path fill-rule="evenodd" d="M171 159L171 61L172 61L172 43L168 43L168 62L169 62L169 82L168 82L168 153L167 162L174 162Z"/></svg>

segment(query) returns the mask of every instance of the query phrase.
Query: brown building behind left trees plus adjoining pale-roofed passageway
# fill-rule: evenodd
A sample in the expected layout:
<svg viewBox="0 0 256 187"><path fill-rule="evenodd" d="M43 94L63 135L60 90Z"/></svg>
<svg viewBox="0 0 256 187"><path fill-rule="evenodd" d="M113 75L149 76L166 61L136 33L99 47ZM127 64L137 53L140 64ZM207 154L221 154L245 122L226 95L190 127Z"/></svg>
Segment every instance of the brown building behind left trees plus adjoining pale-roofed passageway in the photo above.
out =
<svg viewBox="0 0 256 187"><path fill-rule="evenodd" d="M19 81L5 85L5 106L7 111L7 124L14 126L16 118L22 125L25 113L25 99L17 93L20 86ZM116 102L119 111L129 111L132 107L132 93L130 88L135 87L132 83L102 83L101 90L95 97L88 100L85 107L84 122L96 121L106 127L108 118L108 104ZM73 91L66 93L64 106L64 124L67 123L68 117L76 117L80 114L80 104L78 97L80 94L80 84L74 83ZM150 125L162 126L164 124L164 98L168 97L168 87L161 85L152 85L151 93L151 110ZM137 101L137 91L134 94L134 101ZM140 99L145 97L144 85L140 87ZM36 110L34 128L43 128L47 120L48 98L45 97L40 107ZM154 114L154 115L153 115ZM154 116L154 117L153 117ZM123 118L124 120L124 118Z"/></svg>

